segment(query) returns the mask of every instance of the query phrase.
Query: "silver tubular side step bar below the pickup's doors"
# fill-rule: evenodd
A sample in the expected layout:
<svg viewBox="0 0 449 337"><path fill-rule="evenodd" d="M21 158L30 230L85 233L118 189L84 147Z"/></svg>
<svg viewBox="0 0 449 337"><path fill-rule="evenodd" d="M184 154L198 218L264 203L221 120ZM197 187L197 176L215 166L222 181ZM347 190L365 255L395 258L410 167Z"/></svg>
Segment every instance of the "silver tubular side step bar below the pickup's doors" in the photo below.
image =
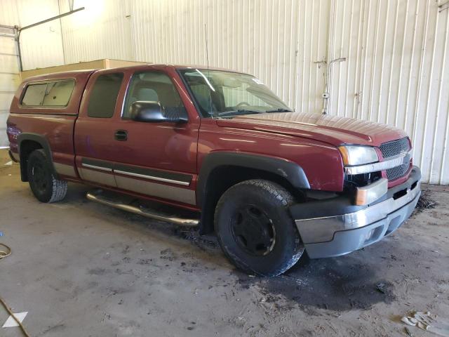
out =
<svg viewBox="0 0 449 337"><path fill-rule="evenodd" d="M140 216L146 216L147 218L166 221L167 223L174 223L175 225L189 226L189 227L199 225L199 219L188 219L188 218L180 218L177 216L167 216L165 214L152 211L151 209L145 209L143 207L136 207L128 204L123 204L123 202L114 201L109 198L103 197L100 194L94 194L93 192L88 192L86 194L86 198L91 201L96 201L103 205L112 206L116 209L121 209L122 211L138 214Z"/></svg>

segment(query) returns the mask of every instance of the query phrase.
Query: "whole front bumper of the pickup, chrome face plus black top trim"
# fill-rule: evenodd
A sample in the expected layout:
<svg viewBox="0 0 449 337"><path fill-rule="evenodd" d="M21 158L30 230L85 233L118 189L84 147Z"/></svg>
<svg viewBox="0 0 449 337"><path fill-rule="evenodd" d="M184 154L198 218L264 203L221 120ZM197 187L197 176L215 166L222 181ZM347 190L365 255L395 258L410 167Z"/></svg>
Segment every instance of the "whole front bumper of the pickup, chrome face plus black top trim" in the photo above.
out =
<svg viewBox="0 0 449 337"><path fill-rule="evenodd" d="M354 206L349 197L296 204L290 207L310 258L340 256L373 244L398 229L420 199L420 169L391 187L381 199ZM319 215L319 217L317 217Z"/></svg>

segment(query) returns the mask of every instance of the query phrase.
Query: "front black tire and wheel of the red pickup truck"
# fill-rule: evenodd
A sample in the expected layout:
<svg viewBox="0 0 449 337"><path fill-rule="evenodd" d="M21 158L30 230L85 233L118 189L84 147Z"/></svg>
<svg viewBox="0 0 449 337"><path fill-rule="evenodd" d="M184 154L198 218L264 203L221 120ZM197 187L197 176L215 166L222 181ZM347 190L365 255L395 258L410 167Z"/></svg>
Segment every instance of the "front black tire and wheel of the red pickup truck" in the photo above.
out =
<svg viewBox="0 0 449 337"><path fill-rule="evenodd" d="M277 276L304 253L288 212L293 196L268 180L246 180L227 190L215 209L215 232L225 255L239 269Z"/></svg>

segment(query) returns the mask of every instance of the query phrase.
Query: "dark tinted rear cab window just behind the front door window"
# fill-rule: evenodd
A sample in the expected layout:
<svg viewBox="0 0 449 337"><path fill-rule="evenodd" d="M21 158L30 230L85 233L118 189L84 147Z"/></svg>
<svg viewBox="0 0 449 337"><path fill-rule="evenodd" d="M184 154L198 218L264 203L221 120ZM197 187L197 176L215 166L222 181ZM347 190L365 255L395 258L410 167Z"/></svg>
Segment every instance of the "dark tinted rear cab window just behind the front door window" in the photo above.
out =
<svg viewBox="0 0 449 337"><path fill-rule="evenodd" d="M87 107L88 117L109 118L114 115L123 73L100 75L93 84Z"/></svg>

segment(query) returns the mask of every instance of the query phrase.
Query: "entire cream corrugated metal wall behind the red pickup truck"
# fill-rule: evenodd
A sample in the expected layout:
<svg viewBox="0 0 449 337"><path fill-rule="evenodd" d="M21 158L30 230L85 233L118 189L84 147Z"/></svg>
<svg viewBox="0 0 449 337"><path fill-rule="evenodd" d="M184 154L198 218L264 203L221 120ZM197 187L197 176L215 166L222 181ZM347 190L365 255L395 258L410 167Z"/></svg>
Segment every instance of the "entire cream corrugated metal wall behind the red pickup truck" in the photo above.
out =
<svg viewBox="0 0 449 337"><path fill-rule="evenodd" d="M205 65L206 25L210 65L255 74L297 111L320 113L326 64L315 62L347 58L332 68L329 114L405 128L424 181L449 184L446 1L75 0L86 10L53 27L62 44L45 59ZM42 37L28 41L25 68Z"/></svg>

